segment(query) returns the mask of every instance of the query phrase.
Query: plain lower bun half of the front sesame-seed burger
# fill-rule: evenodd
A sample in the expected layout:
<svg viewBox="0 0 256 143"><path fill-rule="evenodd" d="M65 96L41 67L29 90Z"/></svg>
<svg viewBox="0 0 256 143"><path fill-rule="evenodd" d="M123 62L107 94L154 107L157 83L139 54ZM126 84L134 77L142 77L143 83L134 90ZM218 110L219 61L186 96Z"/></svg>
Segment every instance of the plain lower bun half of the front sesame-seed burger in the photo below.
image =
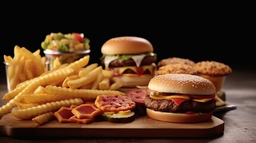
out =
<svg viewBox="0 0 256 143"><path fill-rule="evenodd" d="M182 113L166 113L161 111L154 111L149 108L146 109L147 116L152 119L171 122L171 123L199 123L211 119L210 113L196 113L196 114L182 114Z"/></svg>

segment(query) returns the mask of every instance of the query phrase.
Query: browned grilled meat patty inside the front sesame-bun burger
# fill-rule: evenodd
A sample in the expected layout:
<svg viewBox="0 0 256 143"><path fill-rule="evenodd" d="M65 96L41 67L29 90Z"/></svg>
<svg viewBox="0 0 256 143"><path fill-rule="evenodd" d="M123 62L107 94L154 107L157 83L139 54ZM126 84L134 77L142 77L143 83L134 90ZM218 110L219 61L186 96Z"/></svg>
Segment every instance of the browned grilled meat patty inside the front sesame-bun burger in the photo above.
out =
<svg viewBox="0 0 256 143"><path fill-rule="evenodd" d="M144 102L147 108L169 113L186 113L187 111L209 113L216 107L215 100L209 100L207 102L187 100L182 102L180 106L177 106L173 100L155 100L150 97L145 98Z"/></svg>

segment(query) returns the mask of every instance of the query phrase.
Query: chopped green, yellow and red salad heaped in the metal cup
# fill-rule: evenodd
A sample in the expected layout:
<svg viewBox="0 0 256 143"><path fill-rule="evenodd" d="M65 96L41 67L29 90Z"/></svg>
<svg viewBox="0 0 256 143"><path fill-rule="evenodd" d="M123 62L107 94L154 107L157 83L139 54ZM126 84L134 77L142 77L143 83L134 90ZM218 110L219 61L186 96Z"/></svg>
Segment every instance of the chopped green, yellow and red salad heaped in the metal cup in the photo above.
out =
<svg viewBox="0 0 256 143"><path fill-rule="evenodd" d="M90 39L85 38L83 33L51 33L45 37L41 46L44 50L74 52L90 49Z"/></svg>

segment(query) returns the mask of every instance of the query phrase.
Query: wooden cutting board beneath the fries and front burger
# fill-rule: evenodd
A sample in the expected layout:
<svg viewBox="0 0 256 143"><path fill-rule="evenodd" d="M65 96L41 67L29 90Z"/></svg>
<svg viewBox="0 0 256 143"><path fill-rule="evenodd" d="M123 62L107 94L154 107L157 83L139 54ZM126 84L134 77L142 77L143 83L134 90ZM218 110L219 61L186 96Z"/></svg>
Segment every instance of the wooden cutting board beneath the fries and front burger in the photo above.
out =
<svg viewBox="0 0 256 143"><path fill-rule="evenodd" d="M88 125L59 123L57 120L38 126L32 120L16 119L7 114L0 120L0 135L13 137L71 138L208 138L223 135L224 122L215 116L203 123L167 123L136 117L131 123L93 122Z"/></svg>

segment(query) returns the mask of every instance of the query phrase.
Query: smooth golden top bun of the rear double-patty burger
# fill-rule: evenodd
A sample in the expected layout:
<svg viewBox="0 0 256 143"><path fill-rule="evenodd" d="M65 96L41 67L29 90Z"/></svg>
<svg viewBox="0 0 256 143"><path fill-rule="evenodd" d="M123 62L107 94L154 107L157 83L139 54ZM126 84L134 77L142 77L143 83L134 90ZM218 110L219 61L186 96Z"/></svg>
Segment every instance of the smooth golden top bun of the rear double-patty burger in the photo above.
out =
<svg viewBox="0 0 256 143"><path fill-rule="evenodd" d="M152 44L147 39L135 36L122 36L109 39L101 47L105 55L143 54L153 52Z"/></svg>

